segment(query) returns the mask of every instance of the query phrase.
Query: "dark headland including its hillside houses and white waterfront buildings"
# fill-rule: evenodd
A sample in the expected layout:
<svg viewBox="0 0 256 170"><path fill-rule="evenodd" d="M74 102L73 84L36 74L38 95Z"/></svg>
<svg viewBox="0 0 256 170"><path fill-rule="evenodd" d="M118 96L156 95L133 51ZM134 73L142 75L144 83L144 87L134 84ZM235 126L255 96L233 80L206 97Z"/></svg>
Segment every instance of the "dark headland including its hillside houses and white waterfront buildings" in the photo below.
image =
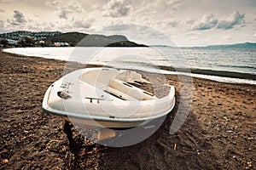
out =
<svg viewBox="0 0 256 170"><path fill-rule="evenodd" d="M86 37L86 38L84 38ZM125 36L90 35L81 32L61 31L12 31L0 34L0 47L145 47L130 42Z"/></svg>

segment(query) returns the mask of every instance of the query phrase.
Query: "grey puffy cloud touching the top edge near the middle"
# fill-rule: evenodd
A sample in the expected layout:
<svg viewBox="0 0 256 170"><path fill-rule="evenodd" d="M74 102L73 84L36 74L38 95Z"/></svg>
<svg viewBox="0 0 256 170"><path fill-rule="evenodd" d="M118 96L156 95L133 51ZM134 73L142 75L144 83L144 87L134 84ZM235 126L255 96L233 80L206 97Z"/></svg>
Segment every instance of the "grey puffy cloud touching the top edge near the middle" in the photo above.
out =
<svg viewBox="0 0 256 170"><path fill-rule="evenodd" d="M125 0L110 0L103 6L104 16L122 17L131 13L131 5L127 4Z"/></svg>

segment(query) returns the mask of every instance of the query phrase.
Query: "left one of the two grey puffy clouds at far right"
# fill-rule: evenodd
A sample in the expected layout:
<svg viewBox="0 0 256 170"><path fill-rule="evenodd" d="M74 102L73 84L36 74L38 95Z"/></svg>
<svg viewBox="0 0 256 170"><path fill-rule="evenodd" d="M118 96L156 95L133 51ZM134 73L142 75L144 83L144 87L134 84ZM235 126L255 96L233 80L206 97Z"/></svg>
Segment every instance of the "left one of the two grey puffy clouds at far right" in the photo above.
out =
<svg viewBox="0 0 256 170"><path fill-rule="evenodd" d="M202 17L201 20L196 20L194 25L191 26L193 30L208 30L216 26L218 19L214 17L213 14L206 14Z"/></svg>

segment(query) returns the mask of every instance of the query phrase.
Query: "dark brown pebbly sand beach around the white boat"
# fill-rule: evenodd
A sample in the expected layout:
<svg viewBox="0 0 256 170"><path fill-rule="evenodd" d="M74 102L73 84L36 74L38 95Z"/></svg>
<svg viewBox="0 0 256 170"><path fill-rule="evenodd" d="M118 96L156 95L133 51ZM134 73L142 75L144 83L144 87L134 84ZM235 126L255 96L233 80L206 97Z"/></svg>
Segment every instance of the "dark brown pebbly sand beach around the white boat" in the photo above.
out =
<svg viewBox="0 0 256 170"><path fill-rule="evenodd" d="M193 78L193 99L183 127L169 134L177 105L154 135L122 148L77 135L74 152L61 117L42 110L65 61L0 52L0 169L254 169L256 86ZM82 65L80 65L82 67ZM73 69L77 69L74 67ZM175 147L174 147L175 146Z"/></svg>

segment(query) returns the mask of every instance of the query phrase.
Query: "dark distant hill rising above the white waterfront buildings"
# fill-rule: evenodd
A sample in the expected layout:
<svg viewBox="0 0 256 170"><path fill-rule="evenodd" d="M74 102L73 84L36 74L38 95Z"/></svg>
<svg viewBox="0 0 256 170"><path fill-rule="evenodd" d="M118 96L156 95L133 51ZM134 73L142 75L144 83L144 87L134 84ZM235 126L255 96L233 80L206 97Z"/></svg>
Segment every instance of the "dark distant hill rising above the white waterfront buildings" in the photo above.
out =
<svg viewBox="0 0 256 170"><path fill-rule="evenodd" d="M67 42L70 46L79 47L148 47L143 44L131 42L127 37L122 35L90 35L77 31L66 33L60 31L12 31L0 34L0 39L16 41L20 41L26 37L32 38L34 41L44 40L44 46L53 46L55 42Z"/></svg>

